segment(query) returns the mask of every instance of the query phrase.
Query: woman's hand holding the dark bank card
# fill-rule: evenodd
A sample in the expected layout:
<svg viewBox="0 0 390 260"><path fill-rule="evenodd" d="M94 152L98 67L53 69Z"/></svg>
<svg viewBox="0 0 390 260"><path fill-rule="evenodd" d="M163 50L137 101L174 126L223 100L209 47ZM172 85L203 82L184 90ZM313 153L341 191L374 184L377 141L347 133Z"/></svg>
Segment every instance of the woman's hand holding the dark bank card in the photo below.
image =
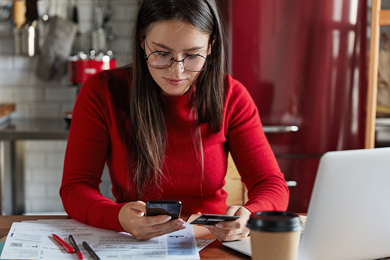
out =
<svg viewBox="0 0 390 260"><path fill-rule="evenodd" d="M219 222L215 226L205 226L215 238L222 241L243 240L249 235L247 222L251 212L242 206L229 206L225 215L240 216L238 220Z"/></svg>

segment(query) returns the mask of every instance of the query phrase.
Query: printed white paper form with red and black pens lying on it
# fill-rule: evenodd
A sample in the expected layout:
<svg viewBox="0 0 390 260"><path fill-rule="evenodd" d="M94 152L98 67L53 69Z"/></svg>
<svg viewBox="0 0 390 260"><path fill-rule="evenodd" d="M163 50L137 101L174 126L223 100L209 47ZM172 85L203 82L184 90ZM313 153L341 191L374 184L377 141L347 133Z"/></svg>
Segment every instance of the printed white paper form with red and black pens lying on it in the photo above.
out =
<svg viewBox="0 0 390 260"><path fill-rule="evenodd" d="M81 242L86 241L101 260L120 259L166 259L199 260L194 229L186 228L151 240L137 240L124 232L95 228L76 220L62 223L40 221L42 223L12 224L4 244L0 259L19 260L73 260L69 254L51 237L56 234L69 243L72 235L85 259L91 259Z"/></svg>

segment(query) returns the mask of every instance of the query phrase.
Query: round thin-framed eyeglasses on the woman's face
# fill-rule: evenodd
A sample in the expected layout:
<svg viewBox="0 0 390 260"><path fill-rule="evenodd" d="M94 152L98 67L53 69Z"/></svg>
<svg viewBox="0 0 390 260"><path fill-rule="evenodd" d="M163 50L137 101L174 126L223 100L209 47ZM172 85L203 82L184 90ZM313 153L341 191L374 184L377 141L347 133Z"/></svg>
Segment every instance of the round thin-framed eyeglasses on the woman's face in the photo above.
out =
<svg viewBox="0 0 390 260"><path fill-rule="evenodd" d="M169 53L164 51L155 51L149 54L149 56L147 56L145 50L145 38L143 39L143 45L145 60L147 60L148 64L155 69L169 68L172 63L176 61L182 62L183 67L188 71L199 72L204 70L207 65L211 64L211 61L208 61L206 58L198 54L189 55L183 60L175 60Z"/></svg>

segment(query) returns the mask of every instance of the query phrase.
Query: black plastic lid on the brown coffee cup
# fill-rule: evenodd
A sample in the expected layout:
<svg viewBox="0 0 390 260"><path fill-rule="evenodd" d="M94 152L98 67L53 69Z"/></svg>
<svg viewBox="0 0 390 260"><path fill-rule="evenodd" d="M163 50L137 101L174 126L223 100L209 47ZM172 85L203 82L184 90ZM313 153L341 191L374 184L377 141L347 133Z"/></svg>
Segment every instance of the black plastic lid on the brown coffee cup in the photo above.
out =
<svg viewBox="0 0 390 260"><path fill-rule="evenodd" d="M251 215L247 227L255 231L291 232L302 229L299 216L289 212L264 211Z"/></svg>

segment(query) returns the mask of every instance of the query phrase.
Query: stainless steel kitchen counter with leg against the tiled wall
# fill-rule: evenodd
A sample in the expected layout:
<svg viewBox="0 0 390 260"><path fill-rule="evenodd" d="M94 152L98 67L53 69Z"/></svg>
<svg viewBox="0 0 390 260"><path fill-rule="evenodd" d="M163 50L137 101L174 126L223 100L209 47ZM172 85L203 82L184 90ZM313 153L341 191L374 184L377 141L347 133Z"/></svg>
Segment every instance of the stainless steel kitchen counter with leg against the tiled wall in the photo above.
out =
<svg viewBox="0 0 390 260"><path fill-rule="evenodd" d="M67 140L63 119L9 120L0 125L0 213L24 212L24 140Z"/></svg>

